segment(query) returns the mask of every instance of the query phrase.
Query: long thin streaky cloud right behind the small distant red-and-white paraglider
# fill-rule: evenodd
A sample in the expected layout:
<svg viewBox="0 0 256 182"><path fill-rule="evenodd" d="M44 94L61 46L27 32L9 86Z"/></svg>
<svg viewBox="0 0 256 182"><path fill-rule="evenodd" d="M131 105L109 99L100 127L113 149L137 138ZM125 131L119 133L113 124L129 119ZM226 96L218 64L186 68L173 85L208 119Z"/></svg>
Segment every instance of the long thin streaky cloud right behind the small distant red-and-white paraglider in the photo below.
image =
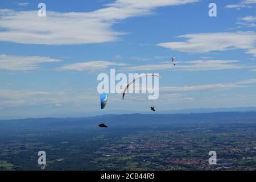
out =
<svg viewBox="0 0 256 182"><path fill-rule="evenodd" d="M170 62L159 64L144 64L133 67L122 68L122 71L209 71L221 69L253 69L253 65L238 64L237 60L195 60L195 61L177 61L176 66Z"/></svg>

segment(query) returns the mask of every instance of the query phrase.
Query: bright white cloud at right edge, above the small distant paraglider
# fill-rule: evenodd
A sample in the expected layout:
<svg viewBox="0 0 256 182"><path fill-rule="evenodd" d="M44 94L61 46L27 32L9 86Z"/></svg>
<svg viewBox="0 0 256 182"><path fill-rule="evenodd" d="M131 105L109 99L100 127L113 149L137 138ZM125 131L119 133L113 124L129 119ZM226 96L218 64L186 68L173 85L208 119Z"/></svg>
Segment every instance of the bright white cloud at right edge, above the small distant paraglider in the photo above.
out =
<svg viewBox="0 0 256 182"><path fill-rule="evenodd" d="M189 53L206 53L210 51L226 51L229 49L255 48L256 34L246 32L217 32L180 35L178 38L187 39L185 42L165 42L157 46ZM256 54L254 54L256 56Z"/></svg>

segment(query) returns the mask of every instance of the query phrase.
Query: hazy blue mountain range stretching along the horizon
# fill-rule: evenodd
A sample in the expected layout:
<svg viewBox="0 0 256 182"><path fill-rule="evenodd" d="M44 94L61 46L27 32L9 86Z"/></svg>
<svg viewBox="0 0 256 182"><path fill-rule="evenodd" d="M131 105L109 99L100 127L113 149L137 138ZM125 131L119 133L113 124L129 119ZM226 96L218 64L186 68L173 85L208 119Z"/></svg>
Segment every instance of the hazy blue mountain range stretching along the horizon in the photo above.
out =
<svg viewBox="0 0 256 182"><path fill-rule="evenodd" d="M100 123L112 129L138 127L186 126L186 123L226 123L236 121L256 122L256 112L221 112L194 114L108 114L86 118L28 118L0 121L0 131L29 129L98 129ZM1 132L0 132L1 133Z"/></svg>

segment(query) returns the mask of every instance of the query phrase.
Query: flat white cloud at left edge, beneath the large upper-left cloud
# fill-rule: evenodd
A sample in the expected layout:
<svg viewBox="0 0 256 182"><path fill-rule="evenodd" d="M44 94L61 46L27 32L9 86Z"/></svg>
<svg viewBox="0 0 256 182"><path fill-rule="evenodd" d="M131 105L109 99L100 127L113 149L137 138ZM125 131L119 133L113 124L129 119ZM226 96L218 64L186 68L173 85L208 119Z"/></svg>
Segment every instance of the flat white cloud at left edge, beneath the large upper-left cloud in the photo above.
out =
<svg viewBox="0 0 256 182"><path fill-rule="evenodd" d="M41 63L59 62L59 59L40 56L0 55L0 69L11 71L31 71L39 69Z"/></svg>

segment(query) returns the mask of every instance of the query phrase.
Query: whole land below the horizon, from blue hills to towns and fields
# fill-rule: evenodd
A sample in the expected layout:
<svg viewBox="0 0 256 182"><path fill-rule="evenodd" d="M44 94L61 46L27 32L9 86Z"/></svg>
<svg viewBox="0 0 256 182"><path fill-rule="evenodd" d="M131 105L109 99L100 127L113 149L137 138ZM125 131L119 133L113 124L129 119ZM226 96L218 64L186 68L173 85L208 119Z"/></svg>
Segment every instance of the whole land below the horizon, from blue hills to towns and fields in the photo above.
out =
<svg viewBox="0 0 256 182"><path fill-rule="evenodd" d="M95 125L102 118L109 130ZM256 112L1 121L0 168L41 170L43 149L45 170L255 170L255 121Z"/></svg>

